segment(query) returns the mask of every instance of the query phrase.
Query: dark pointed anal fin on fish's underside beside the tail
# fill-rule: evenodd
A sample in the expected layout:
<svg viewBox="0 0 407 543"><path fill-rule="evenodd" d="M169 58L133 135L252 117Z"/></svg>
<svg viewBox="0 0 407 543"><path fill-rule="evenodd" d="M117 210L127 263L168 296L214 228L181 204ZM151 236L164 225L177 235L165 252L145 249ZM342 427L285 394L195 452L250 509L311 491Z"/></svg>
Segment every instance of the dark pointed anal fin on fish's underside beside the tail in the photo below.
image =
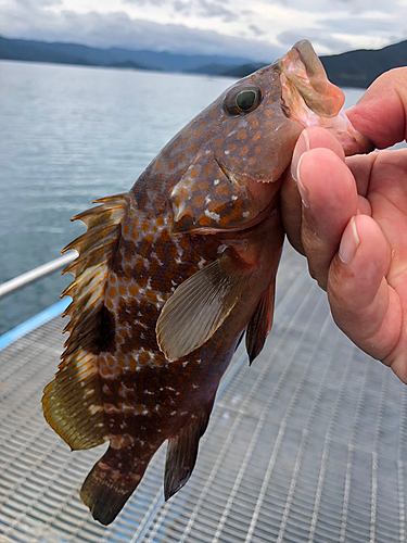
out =
<svg viewBox="0 0 407 543"><path fill-rule="evenodd" d="M168 440L167 460L164 475L164 496L169 500L191 477L198 456L200 439L206 430L214 399L200 414L191 417L177 435Z"/></svg>

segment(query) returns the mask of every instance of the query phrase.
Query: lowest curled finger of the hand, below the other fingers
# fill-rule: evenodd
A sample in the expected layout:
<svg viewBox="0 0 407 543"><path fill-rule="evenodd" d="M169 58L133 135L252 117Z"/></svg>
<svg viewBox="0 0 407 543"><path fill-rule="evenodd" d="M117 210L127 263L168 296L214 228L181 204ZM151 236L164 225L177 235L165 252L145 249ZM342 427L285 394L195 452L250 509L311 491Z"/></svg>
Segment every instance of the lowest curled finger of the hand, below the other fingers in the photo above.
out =
<svg viewBox="0 0 407 543"><path fill-rule="evenodd" d="M358 215L345 228L328 279L336 325L360 349L384 362L402 333L400 301L385 279L390 263L382 230L371 217Z"/></svg>

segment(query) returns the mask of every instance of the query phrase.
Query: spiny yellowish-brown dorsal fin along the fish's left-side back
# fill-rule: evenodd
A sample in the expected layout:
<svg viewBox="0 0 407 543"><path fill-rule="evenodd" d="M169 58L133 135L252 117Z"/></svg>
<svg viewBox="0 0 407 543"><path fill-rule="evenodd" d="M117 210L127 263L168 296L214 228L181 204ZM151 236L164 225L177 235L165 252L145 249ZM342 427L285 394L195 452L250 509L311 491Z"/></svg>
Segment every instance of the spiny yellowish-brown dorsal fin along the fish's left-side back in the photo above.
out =
<svg viewBox="0 0 407 543"><path fill-rule="evenodd" d="M47 421L74 450L91 449L107 439L98 379L98 354L109 336L111 317L104 305L104 291L126 213L127 194L97 202L101 205L73 217L72 220L82 220L88 231L63 250L76 249L79 252L63 272L75 276L61 294L73 299L64 313L64 316L71 316L64 329L71 334L59 372L46 387L42 397Z"/></svg>

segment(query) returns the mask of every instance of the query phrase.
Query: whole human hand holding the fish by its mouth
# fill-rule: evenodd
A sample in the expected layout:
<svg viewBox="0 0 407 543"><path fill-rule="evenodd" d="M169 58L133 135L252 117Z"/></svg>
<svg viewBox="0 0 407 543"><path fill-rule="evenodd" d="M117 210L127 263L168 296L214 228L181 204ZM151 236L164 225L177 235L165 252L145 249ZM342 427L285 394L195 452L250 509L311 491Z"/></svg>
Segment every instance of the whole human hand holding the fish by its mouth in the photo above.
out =
<svg viewBox="0 0 407 543"><path fill-rule="evenodd" d="M407 67L383 74L346 113L378 149L406 140ZM336 325L407 383L407 149L345 159L333 136L311 127L291 174L281 188L290 242L327 290Z"/></svg>

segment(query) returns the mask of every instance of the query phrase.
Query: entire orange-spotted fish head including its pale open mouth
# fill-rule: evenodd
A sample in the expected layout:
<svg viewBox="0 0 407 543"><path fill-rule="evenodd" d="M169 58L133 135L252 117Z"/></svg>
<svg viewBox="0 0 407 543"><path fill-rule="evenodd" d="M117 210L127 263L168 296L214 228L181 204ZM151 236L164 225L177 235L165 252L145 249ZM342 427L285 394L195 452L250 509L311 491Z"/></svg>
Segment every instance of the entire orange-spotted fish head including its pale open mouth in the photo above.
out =
<svg viewBox="0 0 407 543"><path fill-rule="evenodd" d="M344 100L307 40L232 85L186 127L195 156L170 192L174 232L236 231L263 220L278 205L304 127L330 129L346 154L371 150L343 112Z"/></svg>

